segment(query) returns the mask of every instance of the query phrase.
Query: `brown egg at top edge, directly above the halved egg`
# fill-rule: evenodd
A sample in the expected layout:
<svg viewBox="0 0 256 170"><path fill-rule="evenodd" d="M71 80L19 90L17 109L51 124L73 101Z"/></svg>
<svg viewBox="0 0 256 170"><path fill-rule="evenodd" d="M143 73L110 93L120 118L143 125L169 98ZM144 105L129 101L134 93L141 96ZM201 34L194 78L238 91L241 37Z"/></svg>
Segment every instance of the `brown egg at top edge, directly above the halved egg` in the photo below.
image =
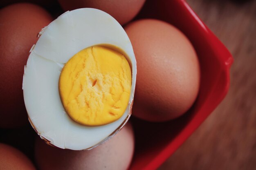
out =
<svg viewBox="0 0 256 170"><path fill-rule="evenodd" d="M114 17L121 25L139 13L145 0L58 0L65 10L96 8Z"/></svg>

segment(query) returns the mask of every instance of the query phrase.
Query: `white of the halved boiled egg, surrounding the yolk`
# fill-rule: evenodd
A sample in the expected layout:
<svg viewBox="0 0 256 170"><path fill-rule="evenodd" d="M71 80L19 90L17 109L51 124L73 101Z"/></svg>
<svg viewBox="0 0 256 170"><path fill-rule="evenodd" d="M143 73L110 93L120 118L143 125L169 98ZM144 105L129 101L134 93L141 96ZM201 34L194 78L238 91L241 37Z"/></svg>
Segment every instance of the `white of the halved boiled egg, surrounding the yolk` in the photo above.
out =
<svg viewBox="0 0 256 170"><path fill-rule="evenodd" d="M41 138L59 148L91 149L110 139L128 121L136 82L136 60L130 40L121 25L98 9L68 11L40 32L31 49L23 76L23 94L31 125ZM126 53L132 66L128 107L117 121L104 126L83 126L65 113L58 92L64 64L89 46L111 44Z"/></svg>

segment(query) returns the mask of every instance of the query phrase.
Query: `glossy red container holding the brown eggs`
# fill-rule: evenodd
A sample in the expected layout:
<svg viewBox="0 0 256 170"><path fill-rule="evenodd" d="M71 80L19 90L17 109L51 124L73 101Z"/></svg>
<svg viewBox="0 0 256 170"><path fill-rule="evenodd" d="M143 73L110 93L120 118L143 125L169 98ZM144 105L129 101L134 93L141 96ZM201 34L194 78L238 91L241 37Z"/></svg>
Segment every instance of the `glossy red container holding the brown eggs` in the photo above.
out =
<svg viewBox="0 0 256 170"><path fill-rule="evenodd" d="M140 18L164 20L180 29L192 42L201 68L198 98L182 117L164 123L131 118L135 131L135 155L129 170L155 170L225 97L233 58L184 0L148 0L135 20Z"/></svg>

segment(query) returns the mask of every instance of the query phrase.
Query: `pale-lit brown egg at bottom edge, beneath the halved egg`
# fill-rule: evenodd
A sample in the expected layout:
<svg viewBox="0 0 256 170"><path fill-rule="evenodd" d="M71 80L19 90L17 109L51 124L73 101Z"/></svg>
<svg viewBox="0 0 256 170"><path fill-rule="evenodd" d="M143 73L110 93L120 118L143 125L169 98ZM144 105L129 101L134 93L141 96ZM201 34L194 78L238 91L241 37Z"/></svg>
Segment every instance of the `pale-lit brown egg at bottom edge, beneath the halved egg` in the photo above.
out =
<svg viewBox="0 0 256 170"><path fill-rule="evenodd" d="M92 150L63 150L38 138L35 157L40 170L127 170L133 151L132 126L126 124L117 135Z"/></svg>

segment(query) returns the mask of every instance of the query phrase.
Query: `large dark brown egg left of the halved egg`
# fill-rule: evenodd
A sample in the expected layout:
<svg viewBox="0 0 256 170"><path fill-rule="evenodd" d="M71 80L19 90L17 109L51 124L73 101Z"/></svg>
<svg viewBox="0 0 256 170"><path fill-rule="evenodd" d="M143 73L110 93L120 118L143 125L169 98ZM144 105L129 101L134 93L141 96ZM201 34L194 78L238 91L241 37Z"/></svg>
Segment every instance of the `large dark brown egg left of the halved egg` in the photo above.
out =
<svg viewBox="0 0 256 170"><path fill-rule="evenodd" d="M37 33L52 21L43 8L20 3L0 10L0 127L25 124L22 77Z"/></svg>

